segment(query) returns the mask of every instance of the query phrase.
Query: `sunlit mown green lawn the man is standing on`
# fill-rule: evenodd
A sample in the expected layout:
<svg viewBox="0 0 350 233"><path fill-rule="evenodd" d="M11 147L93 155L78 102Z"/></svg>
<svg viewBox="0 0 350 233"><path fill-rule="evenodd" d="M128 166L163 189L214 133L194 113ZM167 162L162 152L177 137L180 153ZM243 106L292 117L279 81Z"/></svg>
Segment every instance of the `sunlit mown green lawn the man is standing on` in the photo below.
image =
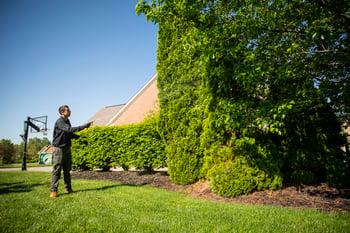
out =
<svg viewBox="0 0 350 233"><path fill-rule="evenodd" d="M72 180L49 198L49 172L0 172L0 232L350 232L350 214L195 199L149 186Z"/></svg>

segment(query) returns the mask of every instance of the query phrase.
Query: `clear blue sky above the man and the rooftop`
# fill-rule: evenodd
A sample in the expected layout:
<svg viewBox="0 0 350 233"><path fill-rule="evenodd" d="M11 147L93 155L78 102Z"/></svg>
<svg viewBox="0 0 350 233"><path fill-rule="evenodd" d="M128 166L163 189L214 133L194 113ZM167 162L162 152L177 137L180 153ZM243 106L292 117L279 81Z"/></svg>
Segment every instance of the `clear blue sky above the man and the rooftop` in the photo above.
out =
<svg viewBox="0 0 350 233"><path fill-rule="evenodd" d="M26 118L47 115L51 141L59 106L77 126L132 98L157 62L158 27L137 2L1 0L0 139L20 144Z"/></svg>

